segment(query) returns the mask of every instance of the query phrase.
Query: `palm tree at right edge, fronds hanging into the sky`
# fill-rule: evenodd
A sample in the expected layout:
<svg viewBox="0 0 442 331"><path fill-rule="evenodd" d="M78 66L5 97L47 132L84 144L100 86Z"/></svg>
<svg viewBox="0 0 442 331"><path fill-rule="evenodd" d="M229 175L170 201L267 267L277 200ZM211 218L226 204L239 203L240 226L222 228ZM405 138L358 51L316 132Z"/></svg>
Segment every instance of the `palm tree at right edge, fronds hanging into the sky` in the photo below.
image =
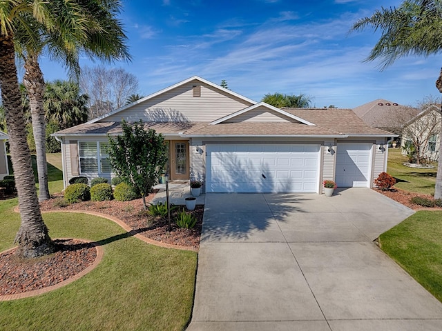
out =
<svg viewBox="0 0 442 331"><path fill-rule="evenodd" d="M371 17L354 23L352 30L372 27L381 30L381 38L365 61L381 59L381 69L401 57L427 57L442 51L442 6L436 0L405 0L398 8L381 8ZM442 93L442 70L436 81ZM442 109L441 109L442 121ZM442 155L442 126L439 132L439 155ZM442 159L439 157L434 198L442 198Z"/></svg>

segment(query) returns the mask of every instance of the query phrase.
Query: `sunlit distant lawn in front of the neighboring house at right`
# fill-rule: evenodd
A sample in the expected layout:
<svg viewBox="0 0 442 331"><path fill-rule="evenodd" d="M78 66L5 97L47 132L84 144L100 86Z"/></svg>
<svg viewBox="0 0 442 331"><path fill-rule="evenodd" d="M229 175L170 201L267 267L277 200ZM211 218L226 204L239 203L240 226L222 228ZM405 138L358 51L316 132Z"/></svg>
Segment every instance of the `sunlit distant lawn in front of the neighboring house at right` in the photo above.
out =
<svg viewBox="0 0 442 331"><path fill-rule="evenodd" d="M416 169L403 165L407 157L401 154L401 148L388 150L387 172L396 178L395 188L408 192L434 195L437 164L432 169Z"/></svg>

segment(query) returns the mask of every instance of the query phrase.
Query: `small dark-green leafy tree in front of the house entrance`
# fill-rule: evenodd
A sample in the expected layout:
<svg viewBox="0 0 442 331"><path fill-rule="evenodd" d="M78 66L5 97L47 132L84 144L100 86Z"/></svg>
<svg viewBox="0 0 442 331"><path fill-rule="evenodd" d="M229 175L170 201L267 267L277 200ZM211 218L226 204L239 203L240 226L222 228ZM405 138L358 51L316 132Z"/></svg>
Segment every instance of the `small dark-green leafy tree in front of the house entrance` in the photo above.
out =
<svg viewBox="0 0 442 331"><path fill-rule="evenodd" d="M153 129L144 129L140 120L132 126L122 121L123 133L109 139L109 161L118 177L131 183L143 198L147 210L146 196L157 183L160 171L167 161L167 147L162 134Z"/></svg>

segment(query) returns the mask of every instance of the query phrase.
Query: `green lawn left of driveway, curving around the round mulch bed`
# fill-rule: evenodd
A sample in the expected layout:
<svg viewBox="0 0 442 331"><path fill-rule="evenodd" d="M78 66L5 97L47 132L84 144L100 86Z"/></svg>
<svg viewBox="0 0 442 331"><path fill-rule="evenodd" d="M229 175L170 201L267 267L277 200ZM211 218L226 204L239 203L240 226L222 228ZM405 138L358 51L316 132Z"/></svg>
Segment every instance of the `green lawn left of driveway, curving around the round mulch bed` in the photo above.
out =
<svg viewBox="0 0 442 331"><path fill-rule="evenodd" d="M48 162L55 170L49 185L50 192L57 192L61 158L52 156ZM19 229L15 205L17 198L0 201L0 251L13 246ZM112 221L86 214L44 214L44 221L52 238L99 241L104 258L95 270L64 288L0 301L0 330L184 329L193 305L195 252L148 245L128 237Z"/></svg>

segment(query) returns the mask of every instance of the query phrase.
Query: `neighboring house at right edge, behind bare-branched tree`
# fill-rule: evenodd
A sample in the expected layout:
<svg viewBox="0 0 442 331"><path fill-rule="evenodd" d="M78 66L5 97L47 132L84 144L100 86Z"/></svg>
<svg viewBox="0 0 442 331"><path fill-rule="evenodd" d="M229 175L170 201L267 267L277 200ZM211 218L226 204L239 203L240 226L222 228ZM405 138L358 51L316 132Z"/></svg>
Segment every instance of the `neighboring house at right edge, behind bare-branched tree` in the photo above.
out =
<svg viewBox="0 0 442 331"><path fill-rule="evenodd" d="M439 159L439 144L441 133L441 105L430 105L407 121L402 128L402 143L405 147L410 141L419 148L419 156L428 160ZM402 154L407 154L404 148Z"/></svg>

